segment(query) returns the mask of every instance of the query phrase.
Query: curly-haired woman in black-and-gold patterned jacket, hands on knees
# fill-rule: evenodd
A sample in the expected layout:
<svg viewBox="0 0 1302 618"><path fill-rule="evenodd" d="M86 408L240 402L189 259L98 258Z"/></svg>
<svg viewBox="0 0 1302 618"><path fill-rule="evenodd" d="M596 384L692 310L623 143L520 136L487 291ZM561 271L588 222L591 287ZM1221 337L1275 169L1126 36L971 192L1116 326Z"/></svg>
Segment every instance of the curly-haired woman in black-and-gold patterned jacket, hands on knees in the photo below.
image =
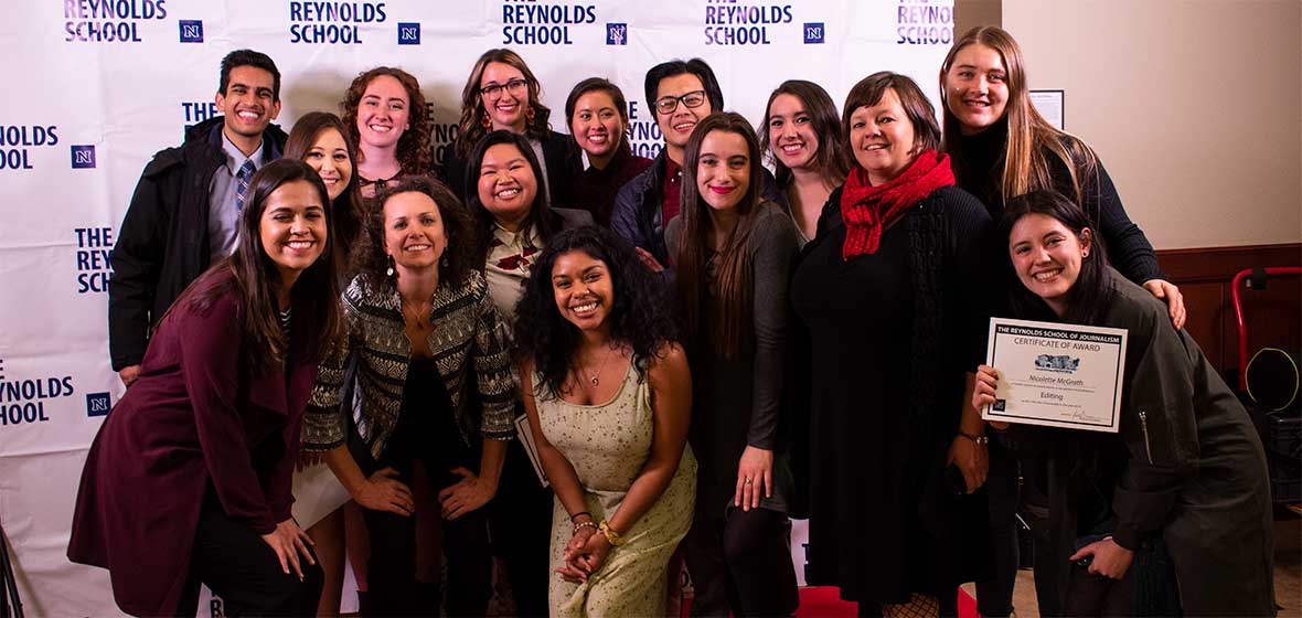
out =
<svg viewBox="0 0 1302 618"><path fill-rule="evenodd" d="M415 579L419 463L439 492L447 613L483 615L492 576L483 506L514 436L506 330L470 260L469 217L448 187L409 177L376 202L355 251L359 273L344 293L346 337L322 364L305 440L326 451L363 509L375 613L439 613L437 576ZM350 362L357 371L346 372ZM469 380L475 405L465 399L475 388ZM340 414L344 392L357 393L355 424Z"/></svg>

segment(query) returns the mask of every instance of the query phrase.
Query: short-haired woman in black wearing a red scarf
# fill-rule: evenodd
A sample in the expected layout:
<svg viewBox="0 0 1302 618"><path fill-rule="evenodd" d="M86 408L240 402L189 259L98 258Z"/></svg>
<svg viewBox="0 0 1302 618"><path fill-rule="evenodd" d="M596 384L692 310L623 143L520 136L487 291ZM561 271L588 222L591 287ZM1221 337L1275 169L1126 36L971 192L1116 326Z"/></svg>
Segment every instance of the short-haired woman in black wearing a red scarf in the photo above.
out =
<svg viewBox="0 0 1302 618"><path fill-rule="evenodd" d="M991 220L953 186L935 111L911 79L868 75L841 114L855 165L792 280L818 449L809 582L840 587L861 611L932 597L950 615L958 583L973 579L965 556L986 549L984 526L965 528L984 522L984 497L962 494L984 483L986 453L963 388L984 350Z"/></svg>

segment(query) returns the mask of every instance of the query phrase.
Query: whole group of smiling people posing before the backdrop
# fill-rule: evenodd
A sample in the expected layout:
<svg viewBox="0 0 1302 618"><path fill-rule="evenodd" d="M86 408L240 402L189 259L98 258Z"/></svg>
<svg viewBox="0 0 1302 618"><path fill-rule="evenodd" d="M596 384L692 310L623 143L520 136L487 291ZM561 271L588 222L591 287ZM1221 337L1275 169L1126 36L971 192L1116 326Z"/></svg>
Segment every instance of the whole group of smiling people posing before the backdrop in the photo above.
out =
<svg viewBox="0 0 1302 618"><path fill-rule="evenodd" d="M575 85L565 135L492 49L439 167L409 73L285 135L272 60L228 55L224 116L118 233L128 389L69 557L141 615L201 583L333 614L345 556L366 615L484 615L495 558L521 615L664 615L682 565L695 615L789 615L807 517L809 582L861 615L956 615L974 580L1009 615L1022 513L1046 615L1272 615L1262 446L1099 157L999 27L939 82L943 122L881 72L840 112L784 82L756 129L663 62L647 160L617 86ZM983 422L991 316L1128 329L1120 433ZM350 501L305 531L314 466Z"/></svg>

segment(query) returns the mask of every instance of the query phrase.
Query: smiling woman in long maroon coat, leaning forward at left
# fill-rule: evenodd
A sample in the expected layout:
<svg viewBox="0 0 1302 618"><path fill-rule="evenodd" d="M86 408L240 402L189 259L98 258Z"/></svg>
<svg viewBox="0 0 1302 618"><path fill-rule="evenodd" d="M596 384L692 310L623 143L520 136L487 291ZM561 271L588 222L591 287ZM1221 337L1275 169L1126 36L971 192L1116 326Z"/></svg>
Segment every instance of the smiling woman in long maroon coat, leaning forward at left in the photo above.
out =
<svg viewBox="0 0 1302 618"><path fill-rule="evenodd" d="M297 160L250 190L234 255L163 316L86 458L68 557L108 569L132 614L193 614L201 583L234 613L316 611L320 567L289 488L340 328L328 196Z"/></svg>

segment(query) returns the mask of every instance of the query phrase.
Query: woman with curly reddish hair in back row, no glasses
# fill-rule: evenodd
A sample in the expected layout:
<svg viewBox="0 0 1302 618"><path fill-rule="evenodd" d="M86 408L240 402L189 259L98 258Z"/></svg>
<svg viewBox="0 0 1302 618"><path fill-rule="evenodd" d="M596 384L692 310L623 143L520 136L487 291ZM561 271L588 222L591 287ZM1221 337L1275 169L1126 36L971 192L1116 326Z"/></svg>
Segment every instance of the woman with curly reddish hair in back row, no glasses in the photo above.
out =
<svg viewBox="0 0 1302 618"><path fill-rule="evenodd" d="M344 95L344 126L357 144L363 198L374 198L400 176L434 170L432 126L421 82L392 66L367 70Z"/></svg>

